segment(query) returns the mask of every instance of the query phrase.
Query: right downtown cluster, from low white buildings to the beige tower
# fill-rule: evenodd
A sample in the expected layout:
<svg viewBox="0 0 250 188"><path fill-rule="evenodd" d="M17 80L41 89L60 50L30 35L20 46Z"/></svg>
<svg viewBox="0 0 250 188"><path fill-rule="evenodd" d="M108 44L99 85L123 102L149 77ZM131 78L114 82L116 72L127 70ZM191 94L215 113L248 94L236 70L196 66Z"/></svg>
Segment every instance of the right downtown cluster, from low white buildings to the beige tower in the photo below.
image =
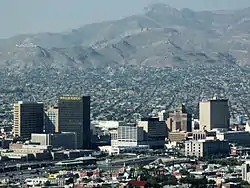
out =
<svg viewBox="0 0 250 188"><path fill-rule="evenodd" d="M184 155L204 157L207 154L227 155L229 143L244 141L242 136L250 138L249 132L229 131L228 100L201 101L199 120L194 120L183 104L175 111L162 111L155 116L135 123L119 122L116 127L107 125L111 144L100 149L118 154L123 150L141 151L182 144Z"/></svg>

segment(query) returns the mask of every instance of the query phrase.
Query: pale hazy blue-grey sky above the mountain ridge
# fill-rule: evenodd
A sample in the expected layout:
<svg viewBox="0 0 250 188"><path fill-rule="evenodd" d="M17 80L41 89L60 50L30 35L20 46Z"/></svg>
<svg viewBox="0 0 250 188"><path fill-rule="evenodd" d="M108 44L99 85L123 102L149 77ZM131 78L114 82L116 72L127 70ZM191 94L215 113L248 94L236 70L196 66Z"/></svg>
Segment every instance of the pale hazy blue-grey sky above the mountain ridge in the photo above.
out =
<svg viewBox="0 0 250 188"><path fill-rule="evenodd" d="M250 0L0 0L0 38L119 19L142 12L152 2L194 10L250 7Z"/></svg>

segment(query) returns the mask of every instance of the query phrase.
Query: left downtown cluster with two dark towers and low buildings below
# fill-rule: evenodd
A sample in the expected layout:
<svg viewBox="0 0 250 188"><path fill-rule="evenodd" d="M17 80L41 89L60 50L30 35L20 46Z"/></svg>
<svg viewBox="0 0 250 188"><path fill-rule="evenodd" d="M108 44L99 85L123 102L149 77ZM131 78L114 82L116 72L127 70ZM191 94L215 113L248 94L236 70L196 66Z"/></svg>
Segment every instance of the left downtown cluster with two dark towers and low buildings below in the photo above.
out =
<svg viewBox="0 0 250 188"><path fill-rule="evenodd" d="M62 96L48 109L41 102L19 101L13 113L13 137L2 140L3 158L56 159L66 149L91 148L90 97Z"/></svg>

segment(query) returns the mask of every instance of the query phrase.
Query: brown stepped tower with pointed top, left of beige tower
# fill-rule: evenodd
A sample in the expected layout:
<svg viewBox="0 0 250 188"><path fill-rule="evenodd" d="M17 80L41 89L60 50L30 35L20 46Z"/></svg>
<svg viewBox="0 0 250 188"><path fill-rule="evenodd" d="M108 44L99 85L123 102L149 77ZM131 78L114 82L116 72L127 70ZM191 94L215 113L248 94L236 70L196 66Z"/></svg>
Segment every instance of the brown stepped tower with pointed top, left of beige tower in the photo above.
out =
<svg viewBox="0 0 250 188"><path fill-rule="evenodd" d="M192 131L192 115L187 113L186 108L181 104L174 112L169 113L167 126L170 132L175 131Z"/></svg>

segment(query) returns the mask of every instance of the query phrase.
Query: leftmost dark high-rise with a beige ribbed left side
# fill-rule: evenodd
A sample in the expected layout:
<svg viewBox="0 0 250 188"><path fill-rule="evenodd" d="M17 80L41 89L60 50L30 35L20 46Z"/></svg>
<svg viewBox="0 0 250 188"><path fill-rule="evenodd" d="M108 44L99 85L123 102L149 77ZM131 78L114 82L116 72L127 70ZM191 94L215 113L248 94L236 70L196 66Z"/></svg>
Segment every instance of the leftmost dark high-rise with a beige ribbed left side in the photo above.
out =
<svg viewBox="0 0 250 188"><path fill-rule="evenodd" d="M19 101L14 104L14 136L29 140L31 133L42 133L43 114L43 103Z"/></svg>

